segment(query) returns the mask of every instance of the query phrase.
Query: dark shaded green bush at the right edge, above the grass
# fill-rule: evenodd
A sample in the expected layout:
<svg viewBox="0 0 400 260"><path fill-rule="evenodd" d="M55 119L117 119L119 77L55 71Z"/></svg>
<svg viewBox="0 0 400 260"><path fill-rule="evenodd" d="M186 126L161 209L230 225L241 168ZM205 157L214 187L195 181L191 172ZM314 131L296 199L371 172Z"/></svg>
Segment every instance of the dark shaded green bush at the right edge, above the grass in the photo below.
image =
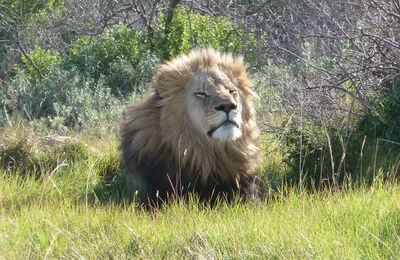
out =
<svg viewBox="0 0 400 260"><path fill-rule="evenodd" d="M400 84L394 79L383 86L365 113L350 129L324 127L311 120L292 124L282 135L288 179L312 186L344 181L372 182L376 177L393 179L400 173ZM300 159L301 158L301 159Z"/></svg>

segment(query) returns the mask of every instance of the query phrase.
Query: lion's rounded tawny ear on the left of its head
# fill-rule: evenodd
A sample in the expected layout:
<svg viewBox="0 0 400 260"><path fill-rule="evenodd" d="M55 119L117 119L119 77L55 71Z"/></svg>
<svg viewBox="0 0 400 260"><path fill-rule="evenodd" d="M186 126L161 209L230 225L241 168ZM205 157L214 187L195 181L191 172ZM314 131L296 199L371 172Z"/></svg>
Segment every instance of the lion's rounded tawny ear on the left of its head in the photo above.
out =
<svg viewBox="0 0 400 260"><path fill-rule="evenodd" d="M168 62L157 70L153 84L161 97L182 91L190 80L191 72L185 64Z"/></svg>

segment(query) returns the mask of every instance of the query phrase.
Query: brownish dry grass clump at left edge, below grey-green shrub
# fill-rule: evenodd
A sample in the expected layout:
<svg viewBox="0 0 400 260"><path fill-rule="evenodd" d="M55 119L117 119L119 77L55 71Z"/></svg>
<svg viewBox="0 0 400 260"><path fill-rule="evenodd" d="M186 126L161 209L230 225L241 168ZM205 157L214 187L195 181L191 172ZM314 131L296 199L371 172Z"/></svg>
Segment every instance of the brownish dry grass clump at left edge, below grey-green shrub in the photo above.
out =
<svg viewBox="0 0 400 260"><path fill-rule="evenodd" d="M90 155L88 146L75 138L39 137L18 125L0 132L0 168L8 173L40 177L61 163L69 167L86 163Z"/></svg>

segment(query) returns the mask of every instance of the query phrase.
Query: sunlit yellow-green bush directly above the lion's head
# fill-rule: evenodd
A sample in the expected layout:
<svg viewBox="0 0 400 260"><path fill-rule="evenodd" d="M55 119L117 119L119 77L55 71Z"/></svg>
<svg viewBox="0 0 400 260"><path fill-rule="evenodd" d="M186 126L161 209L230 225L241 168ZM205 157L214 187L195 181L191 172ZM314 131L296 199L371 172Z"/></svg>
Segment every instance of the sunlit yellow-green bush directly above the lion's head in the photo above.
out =
<svg viewBox="0 0 400 260"><path fill-rule="evenodd" d="M224 16L214 18L178 8L170 24L166 24L166 17L161 16L159 29L156 51L162 59L187 53L195 47L213 47L236 53L245 47L243 30Z"/></svg>

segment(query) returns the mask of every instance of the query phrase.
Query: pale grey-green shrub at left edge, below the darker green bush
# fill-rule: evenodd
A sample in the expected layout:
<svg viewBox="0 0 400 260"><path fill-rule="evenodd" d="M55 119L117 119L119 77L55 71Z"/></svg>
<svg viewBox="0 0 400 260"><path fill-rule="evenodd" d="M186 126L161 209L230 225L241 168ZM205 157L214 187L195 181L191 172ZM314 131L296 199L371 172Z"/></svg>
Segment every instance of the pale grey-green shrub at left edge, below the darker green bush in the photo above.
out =
<svg viewBox="0 0 400 260"><path fill-rule="evenodd" d="M61 128L60 124L80 127L89 121L115 122L125 106L125 99L113 95L103 78L95 82L59 66L42 80L20 71L0 94L11 115L22 112L29 120L44 118L55 128Z"/></svg>

